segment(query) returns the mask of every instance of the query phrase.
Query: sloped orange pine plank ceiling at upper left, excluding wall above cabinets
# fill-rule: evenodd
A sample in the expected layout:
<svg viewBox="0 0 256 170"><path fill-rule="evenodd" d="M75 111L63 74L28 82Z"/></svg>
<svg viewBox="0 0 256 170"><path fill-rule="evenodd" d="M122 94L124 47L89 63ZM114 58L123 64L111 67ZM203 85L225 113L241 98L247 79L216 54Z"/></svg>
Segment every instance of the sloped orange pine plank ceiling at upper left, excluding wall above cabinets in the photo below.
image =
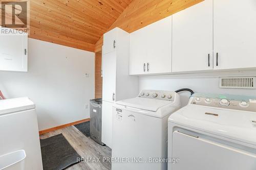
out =
<svg viewBox="0 0 256 170"><path fill-rule="evenodd" d="M30 1L30 38L93 51L132 0Z"/></svg>

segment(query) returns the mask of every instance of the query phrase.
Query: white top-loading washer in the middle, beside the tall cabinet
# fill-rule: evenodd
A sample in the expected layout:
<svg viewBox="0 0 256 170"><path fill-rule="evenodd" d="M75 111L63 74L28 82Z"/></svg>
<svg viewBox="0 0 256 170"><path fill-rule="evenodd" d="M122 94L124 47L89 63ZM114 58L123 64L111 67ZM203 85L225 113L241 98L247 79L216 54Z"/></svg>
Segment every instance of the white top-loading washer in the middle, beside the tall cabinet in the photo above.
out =
<svg viewBox="0 0 256 170"><path fill-rule="evenodd" d="M173 91L143 90L113 106L112 169L167 169L167 124L181 106ZM153 158L157 158L154 159Z"/></svg>

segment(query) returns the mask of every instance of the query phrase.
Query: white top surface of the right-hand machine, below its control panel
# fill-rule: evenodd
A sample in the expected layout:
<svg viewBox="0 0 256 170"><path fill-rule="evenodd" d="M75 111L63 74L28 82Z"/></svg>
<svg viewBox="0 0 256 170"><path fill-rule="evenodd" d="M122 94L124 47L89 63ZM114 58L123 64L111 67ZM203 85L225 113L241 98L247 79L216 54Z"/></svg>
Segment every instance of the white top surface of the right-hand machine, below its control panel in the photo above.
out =
<svg viewBox="0 0 256 170"><path fill-rule="evenodd" d="M169 122L256 145L256 113L187 105Z"/></svg>

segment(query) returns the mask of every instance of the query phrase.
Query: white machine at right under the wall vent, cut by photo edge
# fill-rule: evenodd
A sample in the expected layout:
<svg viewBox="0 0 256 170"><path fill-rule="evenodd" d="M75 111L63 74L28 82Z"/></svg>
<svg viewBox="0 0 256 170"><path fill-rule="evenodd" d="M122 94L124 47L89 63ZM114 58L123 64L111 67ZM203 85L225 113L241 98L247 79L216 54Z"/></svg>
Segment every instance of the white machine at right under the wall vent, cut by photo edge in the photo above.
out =
<svg viewBox="0 0 256 170"><path fill-rule="evenodd" d="M168 170L255 170L256 97L194 94L168 119Z"/></svg>

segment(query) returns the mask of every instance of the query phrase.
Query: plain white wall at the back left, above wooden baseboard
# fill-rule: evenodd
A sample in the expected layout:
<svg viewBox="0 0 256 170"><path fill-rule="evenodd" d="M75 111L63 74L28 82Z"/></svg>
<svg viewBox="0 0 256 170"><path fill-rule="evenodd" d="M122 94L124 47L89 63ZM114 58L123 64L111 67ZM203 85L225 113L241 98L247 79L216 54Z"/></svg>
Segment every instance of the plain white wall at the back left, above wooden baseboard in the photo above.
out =
<svg viewBox="0 0 256 170"><path fill-rule="evenodd" d="M36 104L39 130L88 118L94 53L30 38L28 48L28 72L0 71L6 98L28 96Z"/></svg>

